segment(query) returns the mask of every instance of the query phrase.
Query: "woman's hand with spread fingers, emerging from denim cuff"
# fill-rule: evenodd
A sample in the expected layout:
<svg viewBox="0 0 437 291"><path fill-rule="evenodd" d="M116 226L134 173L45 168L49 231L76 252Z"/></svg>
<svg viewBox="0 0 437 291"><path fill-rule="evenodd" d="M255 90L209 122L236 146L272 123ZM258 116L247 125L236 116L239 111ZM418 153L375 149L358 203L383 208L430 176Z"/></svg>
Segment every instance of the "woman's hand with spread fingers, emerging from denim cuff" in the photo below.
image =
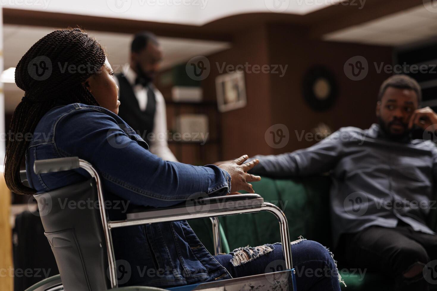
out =
<svg viewBox="0 0 437 291"><path fill-rule="evenodd" d="M231 193L238 192L240 190L245 190L249 193L255 193L253 191L252 184L248 182L261 180L260 176L247 174L247 171L255 167L260 161L255 159L248 163L244 163L247 158L248 156L245 154L244 156L241 156L230 163L218 165L218 168L227 171L229 175L231 175Z"/></svg>

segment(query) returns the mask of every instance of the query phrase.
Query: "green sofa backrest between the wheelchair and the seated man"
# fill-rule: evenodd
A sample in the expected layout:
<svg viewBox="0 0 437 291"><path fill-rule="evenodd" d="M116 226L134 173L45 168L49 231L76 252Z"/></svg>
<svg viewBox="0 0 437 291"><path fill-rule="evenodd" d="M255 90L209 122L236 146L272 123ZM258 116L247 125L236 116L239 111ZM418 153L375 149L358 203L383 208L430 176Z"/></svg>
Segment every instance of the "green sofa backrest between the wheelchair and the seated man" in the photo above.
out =
<svg viewBox="0 0 437 291"><path fill-rule="evenodd" d="M271 179L253 183L265 202L279 206L287 216L291 240L303 236L325 246L331 244L329 177ZM231 250L281 241L273 214L258 212L220 218ZM328 223L326 223L328 221Z"/></svg>

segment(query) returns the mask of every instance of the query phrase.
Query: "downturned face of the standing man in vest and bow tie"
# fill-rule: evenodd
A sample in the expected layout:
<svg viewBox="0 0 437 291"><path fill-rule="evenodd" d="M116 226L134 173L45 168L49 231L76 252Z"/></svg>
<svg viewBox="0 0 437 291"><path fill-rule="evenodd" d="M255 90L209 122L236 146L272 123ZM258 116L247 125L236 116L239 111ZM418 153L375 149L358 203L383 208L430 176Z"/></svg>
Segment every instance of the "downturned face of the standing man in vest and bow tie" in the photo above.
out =
<svg viewBox="0 0 437 291"><path fill-rule="evenodd" d="M159 45L149 42L142 51L132 52L132 61L138 64L142 72L149 79L153 79L158 72L163 53Z"/></svg>

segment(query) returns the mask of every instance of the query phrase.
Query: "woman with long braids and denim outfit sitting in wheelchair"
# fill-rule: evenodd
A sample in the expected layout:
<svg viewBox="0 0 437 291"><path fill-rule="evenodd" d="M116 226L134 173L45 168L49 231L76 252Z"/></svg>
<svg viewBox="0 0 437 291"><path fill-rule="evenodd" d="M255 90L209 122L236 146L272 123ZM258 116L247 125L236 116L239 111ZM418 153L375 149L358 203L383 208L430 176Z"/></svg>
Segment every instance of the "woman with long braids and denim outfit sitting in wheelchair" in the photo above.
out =
<svg viewBox="0 0 437 291"><path fill-rule="evenodd" d="M250 182L260 177L246 172L257 160L246 162L246 155L230 164L200 167L151 154L117 116L113 74L101 45L78 28L53 31L24 54L15 82L25 93L10 123L14 135L5 158L4 175L13 192L35 194L86 180L89 175L82 169L33 171L35 160L77 156L97 169L105 195L134 205L166 207L194 193L253 193ZM20 180L24 161L30 188ZM284 260L280 243L213 256L187 221L117 228L112 238L116 260L131 266L125 285L166 288L263 274L271 271L271 262ZM309 240L291 244L299 291L340 290L332 253Z"/></svg>

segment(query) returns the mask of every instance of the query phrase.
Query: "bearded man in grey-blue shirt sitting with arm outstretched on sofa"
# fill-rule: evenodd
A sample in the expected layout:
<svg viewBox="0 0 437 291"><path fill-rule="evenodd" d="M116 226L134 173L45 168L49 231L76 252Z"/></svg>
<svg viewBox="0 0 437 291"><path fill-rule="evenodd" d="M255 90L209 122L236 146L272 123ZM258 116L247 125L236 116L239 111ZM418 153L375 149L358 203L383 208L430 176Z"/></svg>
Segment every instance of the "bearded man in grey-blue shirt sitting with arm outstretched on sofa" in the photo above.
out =
<svg viewBox="0 0 437 291"><path fill-rule="evenodd" d="M437 260L437 236L426 223L437 147L411 137L415 126L434 132L437 114L429 107L418 109L420 101L415 80L392 76L379 92L379 124L367 130L340 128L292 153L256 156L260 163L250 171L275 177L330 171L336 253L342 251L354 267L389 273L396 290L428 290L423 269Z"/></svg>

